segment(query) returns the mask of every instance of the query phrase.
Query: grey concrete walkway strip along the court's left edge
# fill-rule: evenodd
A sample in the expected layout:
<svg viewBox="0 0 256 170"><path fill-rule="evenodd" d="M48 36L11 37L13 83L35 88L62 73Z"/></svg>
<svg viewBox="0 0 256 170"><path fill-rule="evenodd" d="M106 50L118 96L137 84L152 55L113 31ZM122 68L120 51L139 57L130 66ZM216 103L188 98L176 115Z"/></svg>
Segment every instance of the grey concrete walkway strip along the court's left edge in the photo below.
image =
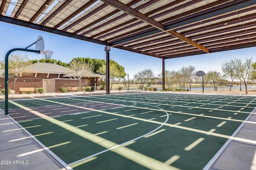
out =
<svg viewBox="0 0 256 170"><path fill-rule="evenodd" d="M0 112L0 170L65 170L8 115Z"/></svg>

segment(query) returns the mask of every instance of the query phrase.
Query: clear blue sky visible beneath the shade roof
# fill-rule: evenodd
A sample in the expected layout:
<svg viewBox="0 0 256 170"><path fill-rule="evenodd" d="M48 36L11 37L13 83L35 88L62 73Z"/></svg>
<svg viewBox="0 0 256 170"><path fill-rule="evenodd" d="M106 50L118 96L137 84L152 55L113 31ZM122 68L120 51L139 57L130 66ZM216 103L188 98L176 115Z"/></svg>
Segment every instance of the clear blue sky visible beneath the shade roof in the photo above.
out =
<svg viewBox="0 0 256 170"><path fill-rule="evenodd" d="M38 31L18 25L0 22L0 59L10 49L14 48L26 48L34 43L39 35L44 38L45 50L51 50L51 59L60 60L64 63L69 63L76 57L90 57L96 59L106 59L106 53L103 45L95 43L89 43L82 40L68 38L53 33L47 33L44 31ZM34 45L29 49L34 49ZM205 55L195 55L190 57L180 57L176 59L166 59L166 70L179 70L182 66L195 66L196 70L203 70L208 72L210 70L216 70L222 73L221 63L228 61L232 58L240 58L244 60L246 57L253 57L253 61L256 61L255 57L256 47L239 49L233 51L224 51L218 53L211 53ZM45 58L44 55L31 52L14 51L15 53L27 54L31 60ZM133 75L139 71L150 68L154 74L160 74L162 72L162 59L132 53L116 48L111 48L110 59L116 61L118 64L125 68L125 72L129 73L129 79L133 78ZM127 79L127 76L126 76Z"/></svg>

